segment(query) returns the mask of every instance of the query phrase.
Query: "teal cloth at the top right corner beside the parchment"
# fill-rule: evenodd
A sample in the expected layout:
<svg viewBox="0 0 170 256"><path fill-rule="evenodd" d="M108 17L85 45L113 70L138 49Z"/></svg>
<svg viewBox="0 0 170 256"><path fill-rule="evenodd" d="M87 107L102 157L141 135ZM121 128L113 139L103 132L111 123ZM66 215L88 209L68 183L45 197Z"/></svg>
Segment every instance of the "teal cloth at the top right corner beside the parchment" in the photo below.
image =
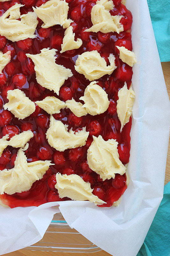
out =
<svg viewBox="0 0 170 256"><path fill-rule="evenodd" d="M170 61L170 0L147 0L160 61Z"/></svg>

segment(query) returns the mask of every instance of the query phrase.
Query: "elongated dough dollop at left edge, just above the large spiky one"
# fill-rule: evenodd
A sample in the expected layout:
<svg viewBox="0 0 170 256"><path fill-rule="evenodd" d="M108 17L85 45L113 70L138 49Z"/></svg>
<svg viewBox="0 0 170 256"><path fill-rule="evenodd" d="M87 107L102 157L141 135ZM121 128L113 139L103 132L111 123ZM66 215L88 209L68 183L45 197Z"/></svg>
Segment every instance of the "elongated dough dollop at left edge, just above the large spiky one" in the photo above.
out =
<svg viewBox="0 0 170 256"><path fill-rule="evenodd" d="M8 140L9 135L6 134L4 137L2 137L2 139L0 139L0 157L2 156L2 152L7 146L12 146L13 148L24 148L26 143L32 137L33 137L33 132L31 131L25 131L25 132L21 132L20 134L16 134L10 140Z"/></svg>

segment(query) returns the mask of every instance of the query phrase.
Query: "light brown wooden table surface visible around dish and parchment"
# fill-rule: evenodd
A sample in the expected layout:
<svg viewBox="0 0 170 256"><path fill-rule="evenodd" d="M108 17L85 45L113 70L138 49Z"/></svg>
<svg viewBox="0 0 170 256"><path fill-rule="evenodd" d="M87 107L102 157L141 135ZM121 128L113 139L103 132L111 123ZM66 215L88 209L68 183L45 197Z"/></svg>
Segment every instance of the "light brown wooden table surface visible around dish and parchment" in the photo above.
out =
<svg viewBox="0 0 170 256"><path fill-rule="evenodd" d="M166 87L168 91L168 95L170 98L170 62L163 62L162 69L164 72ZM166 163L166 175L165 175L165 184L170 181L170 142L168 148L168 155L167 155L167 163ZM16 252L11 252L4 254L7 256L108 256L111 255L107 252L100 251L100 252L93 252L93 253L68 253L68 252L39 252L39 251L26 251L26 250L19 250ZM121 255L120 255L121 256Z"/></svg>

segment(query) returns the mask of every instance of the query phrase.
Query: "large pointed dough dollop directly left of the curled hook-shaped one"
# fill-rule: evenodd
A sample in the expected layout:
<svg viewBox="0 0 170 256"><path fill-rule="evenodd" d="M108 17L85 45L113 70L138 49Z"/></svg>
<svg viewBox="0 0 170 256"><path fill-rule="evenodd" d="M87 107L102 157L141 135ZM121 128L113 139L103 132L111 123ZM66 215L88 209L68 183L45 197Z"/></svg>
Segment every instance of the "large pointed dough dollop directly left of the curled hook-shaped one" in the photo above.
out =
<svg viewBox="0 0 170 256"><path fill-rule="evenodd" d="M31 58L35 64L37 82L58 95L64 81L73 74L69 68L55 63L56 51L55 49L44 48L39 54L27 53L26 56Z"/></svg>

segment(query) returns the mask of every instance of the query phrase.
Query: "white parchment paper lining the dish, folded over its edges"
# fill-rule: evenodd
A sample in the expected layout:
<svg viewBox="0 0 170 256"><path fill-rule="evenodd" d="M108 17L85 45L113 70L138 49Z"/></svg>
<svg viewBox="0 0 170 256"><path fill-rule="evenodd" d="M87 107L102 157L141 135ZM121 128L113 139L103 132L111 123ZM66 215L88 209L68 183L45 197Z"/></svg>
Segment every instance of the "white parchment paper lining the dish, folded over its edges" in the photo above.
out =
<svg viewBox="0 0 170 256"><path fill-rule="evenodd" d="M0 207L0 254L38 242L53 214L61 211L71 228L114 256L136 256L163 196L170 103L146 0L127 0L133 15L133 71L130 184L119 207L66 201L39 207ZM60 207L52 207L59 204Z"/></svg>

